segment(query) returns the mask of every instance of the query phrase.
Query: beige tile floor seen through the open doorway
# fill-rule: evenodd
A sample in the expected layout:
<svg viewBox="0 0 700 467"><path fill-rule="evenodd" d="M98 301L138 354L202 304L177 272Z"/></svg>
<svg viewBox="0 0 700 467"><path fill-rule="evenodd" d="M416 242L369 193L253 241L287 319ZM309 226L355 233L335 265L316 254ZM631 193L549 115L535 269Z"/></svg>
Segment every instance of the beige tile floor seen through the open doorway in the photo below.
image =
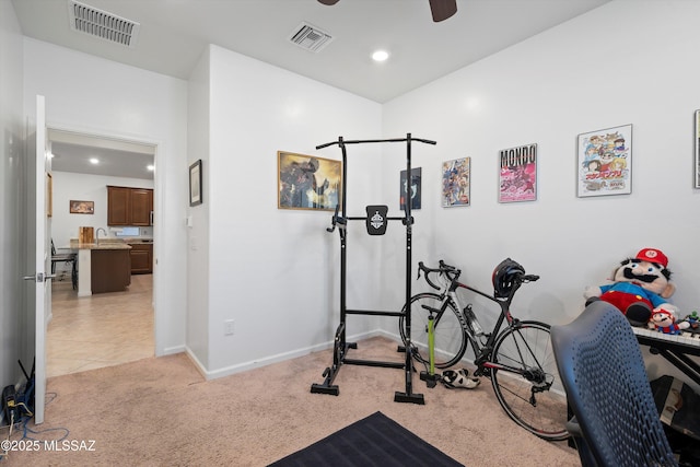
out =
<svg viewBox="0 0 700 467"><path fill-rule="evenodd" d="M78 373L154 354L153 276L131 276L125 292L78 297L70 276L51 285L47 376Z"/></svg>

